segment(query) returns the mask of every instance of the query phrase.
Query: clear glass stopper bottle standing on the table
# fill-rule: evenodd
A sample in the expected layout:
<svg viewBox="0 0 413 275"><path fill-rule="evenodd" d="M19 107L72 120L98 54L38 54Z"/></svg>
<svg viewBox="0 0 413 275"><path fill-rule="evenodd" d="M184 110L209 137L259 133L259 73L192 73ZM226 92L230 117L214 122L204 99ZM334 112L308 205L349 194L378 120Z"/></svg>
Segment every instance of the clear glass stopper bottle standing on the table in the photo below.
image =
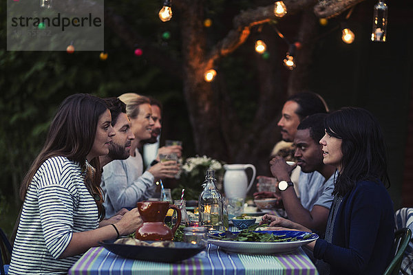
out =
<svg viewBox="0 0 413 275"><path fill-rule="evenodd" d="M215 182L215 170L207 170L204 190L198 199L200 226L206 226L209 230L222 229L222 196Z"/></svg>

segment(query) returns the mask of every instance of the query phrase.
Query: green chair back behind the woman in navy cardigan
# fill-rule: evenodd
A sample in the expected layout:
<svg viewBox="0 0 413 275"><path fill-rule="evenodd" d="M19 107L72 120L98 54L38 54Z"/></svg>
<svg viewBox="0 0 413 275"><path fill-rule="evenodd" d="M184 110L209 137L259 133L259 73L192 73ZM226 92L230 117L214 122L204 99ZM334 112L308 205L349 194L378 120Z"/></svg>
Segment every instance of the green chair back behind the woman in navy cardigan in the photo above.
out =
<svg viewBox="0 0 413 275"><path fill-rule="evenodd" d="M409 228L401 228L394 233L394 245L396 245L396 255L390 262L390 265L385 270L383 275L398 275L400 272L401 261L403 254L409 244L412 236L412 231Z"/></svg>

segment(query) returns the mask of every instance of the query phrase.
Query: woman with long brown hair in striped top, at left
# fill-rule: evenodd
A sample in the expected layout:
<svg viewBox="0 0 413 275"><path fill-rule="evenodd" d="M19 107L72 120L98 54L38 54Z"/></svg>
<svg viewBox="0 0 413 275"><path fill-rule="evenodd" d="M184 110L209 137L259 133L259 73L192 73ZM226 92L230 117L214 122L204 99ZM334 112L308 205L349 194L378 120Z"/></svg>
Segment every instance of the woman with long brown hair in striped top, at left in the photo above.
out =
<svg viewBox="0 0 413 275"><path fill-rule="evenodd" d="M116 225L98 228L105 217L98 157L109 152L114 134L102 99L75 94L62 102L21 184L24 202L9 274L67 274L98 241L136 230L136 208Z"/></svg>

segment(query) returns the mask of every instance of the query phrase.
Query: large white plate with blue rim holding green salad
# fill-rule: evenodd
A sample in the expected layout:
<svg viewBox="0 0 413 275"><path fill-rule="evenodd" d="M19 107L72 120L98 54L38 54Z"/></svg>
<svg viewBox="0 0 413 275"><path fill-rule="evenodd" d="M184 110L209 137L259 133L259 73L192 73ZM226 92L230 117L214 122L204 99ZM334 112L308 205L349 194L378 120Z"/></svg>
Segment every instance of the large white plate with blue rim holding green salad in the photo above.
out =
<svg viewBox="0 0 413 275"><path fill-rule="evenodd" d="M248 242L248 241L221 241L217 239L209 239L208 243L218 245L223 250L228 252L235 252L241 254L275 254L275 253L290 253L301 245L310 243L318 239L318 235L315 233L302 232L302 231L265 231L272 234L286 234L287 236L297 236L298 241L282 241L271 243L260 242ZM303 236L311 234L310 238L302 239Z"/></svg>

